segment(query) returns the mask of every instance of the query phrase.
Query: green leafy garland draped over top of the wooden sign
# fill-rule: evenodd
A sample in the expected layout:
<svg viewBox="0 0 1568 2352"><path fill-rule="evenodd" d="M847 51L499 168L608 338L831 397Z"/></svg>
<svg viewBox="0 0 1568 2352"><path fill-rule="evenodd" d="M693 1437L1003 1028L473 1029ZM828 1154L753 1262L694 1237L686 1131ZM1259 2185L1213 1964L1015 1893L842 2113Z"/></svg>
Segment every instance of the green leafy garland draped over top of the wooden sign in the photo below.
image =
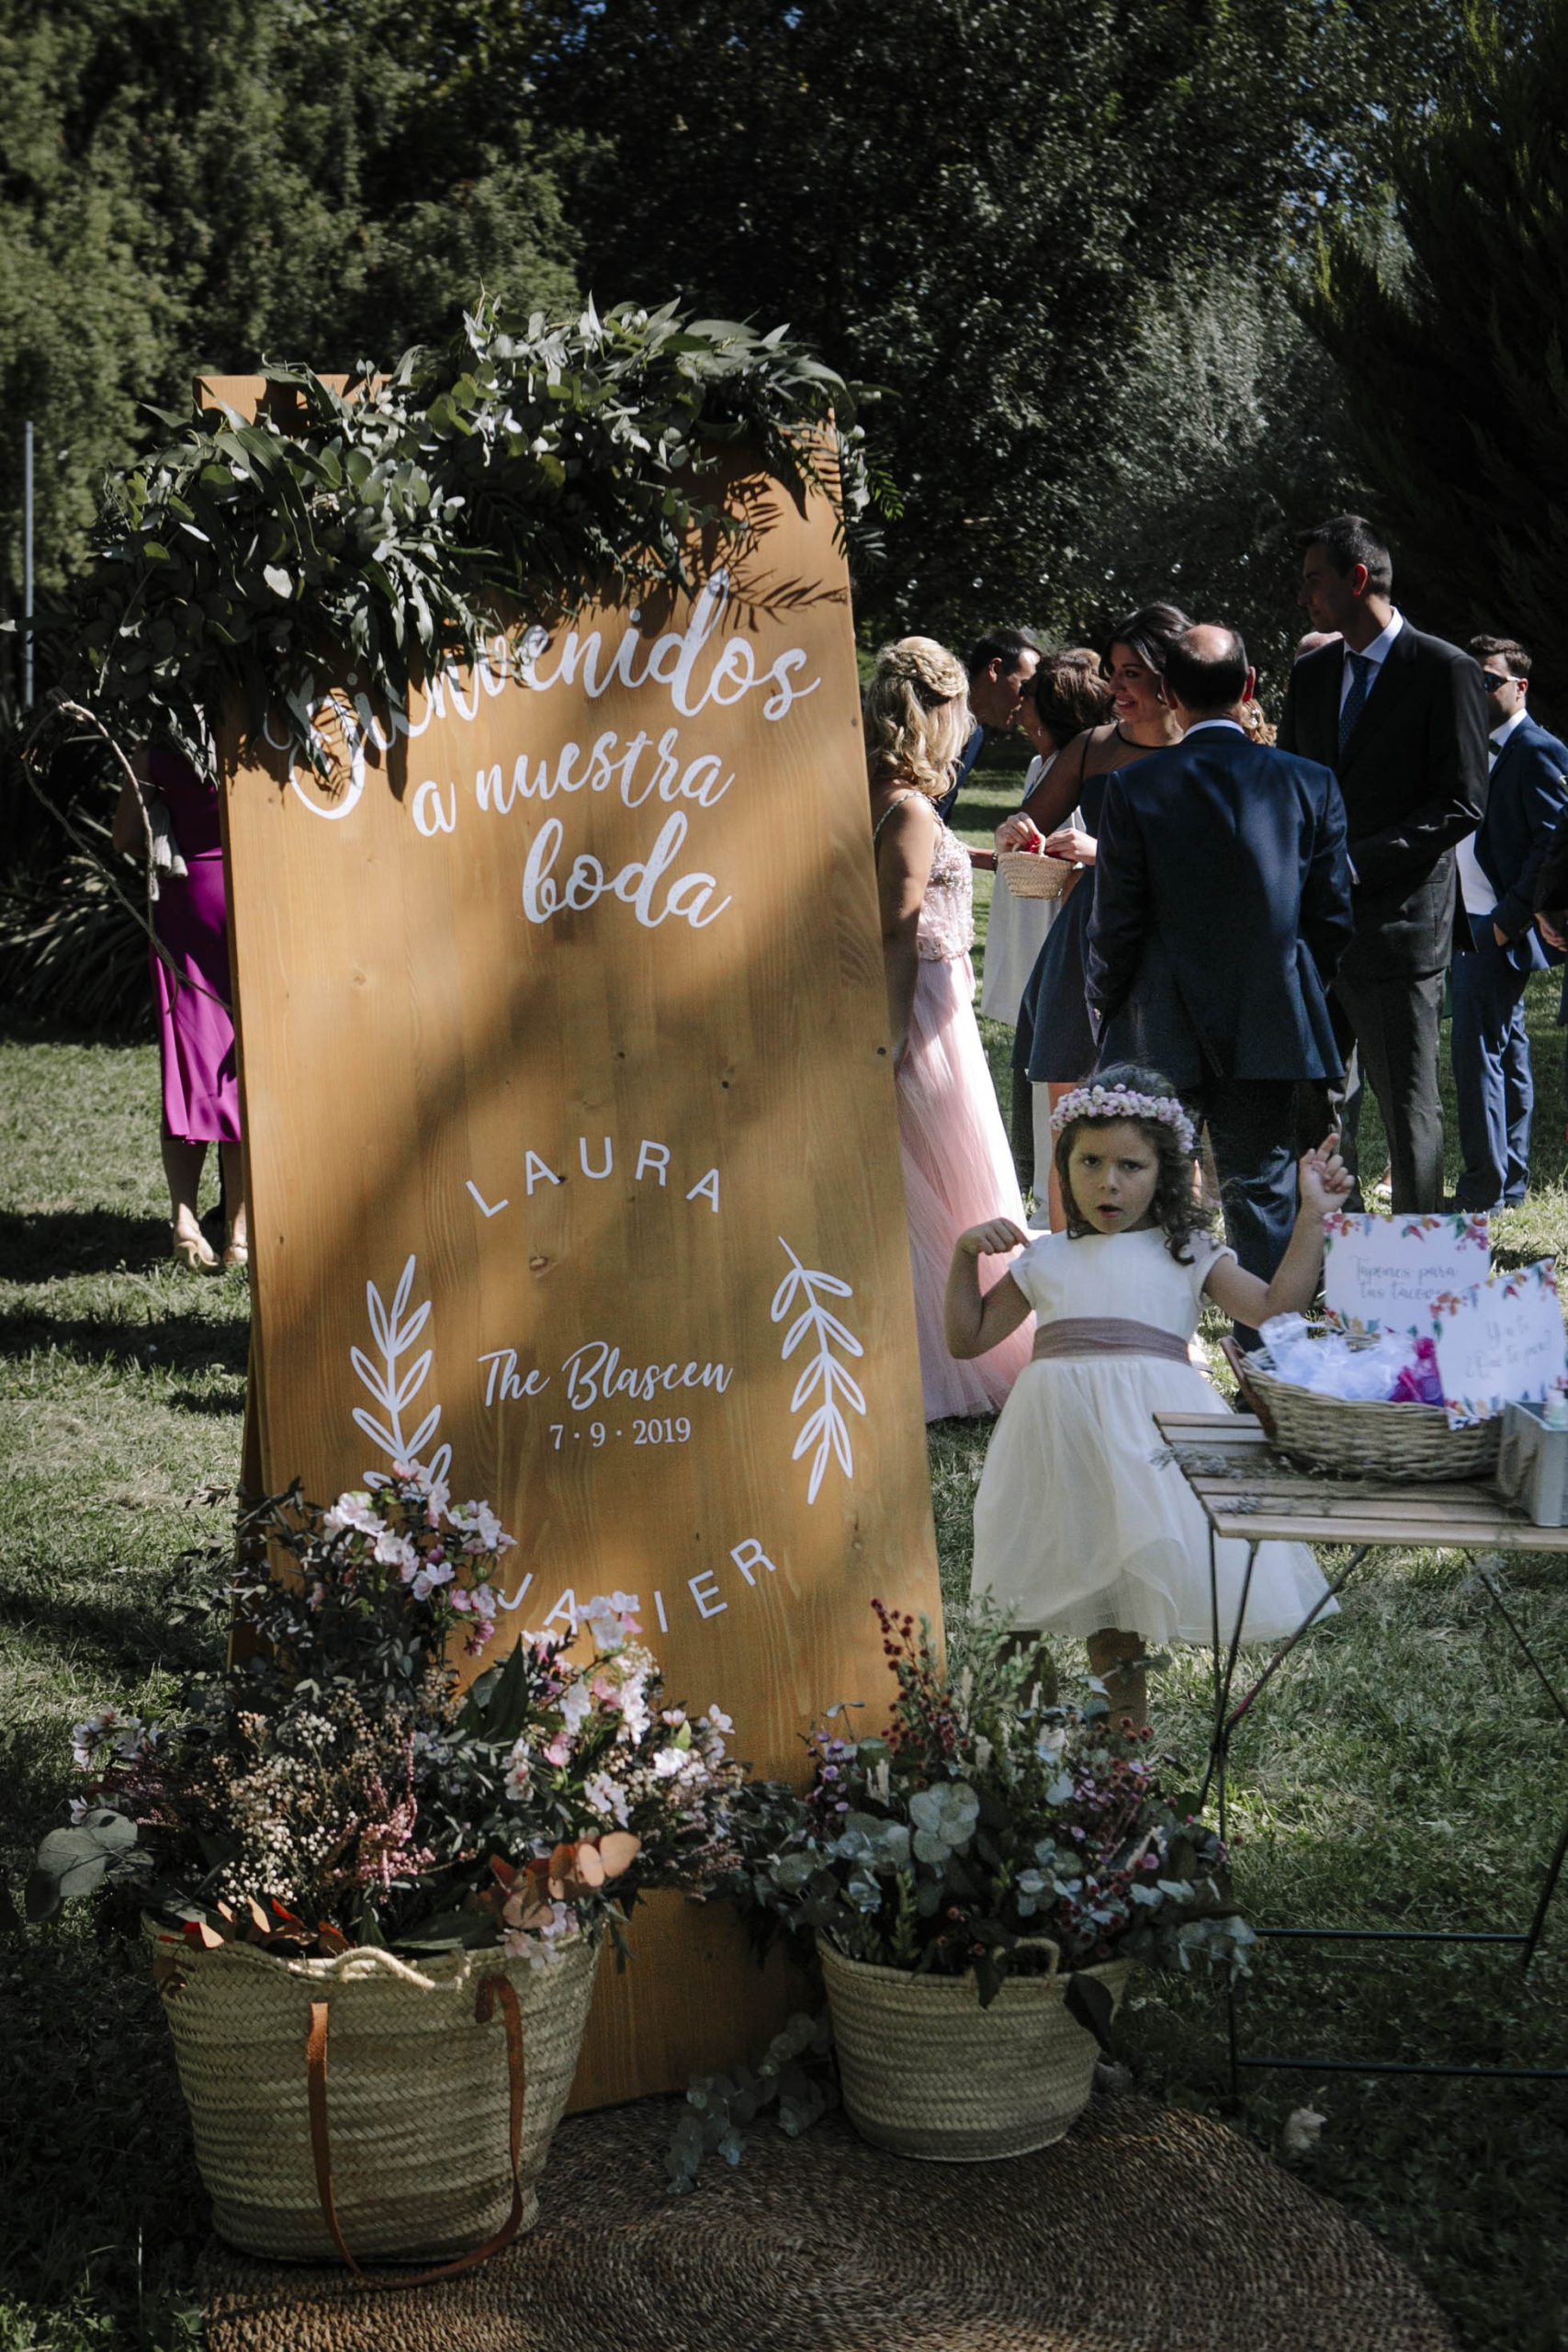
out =
<svg viewBox="0 0 1568 2352"><path fill-rule="evenodd" d="M444 346L346 390L268 367L294 414L155 412L172 437L110 475L94 560L49 619L61 682L129 736L200 741L310 713L357 670L404 696L524 612L684 583L733 445L846 520L872 503L856 395L788 339L675 306L574 320L482 301Z"/></svg>

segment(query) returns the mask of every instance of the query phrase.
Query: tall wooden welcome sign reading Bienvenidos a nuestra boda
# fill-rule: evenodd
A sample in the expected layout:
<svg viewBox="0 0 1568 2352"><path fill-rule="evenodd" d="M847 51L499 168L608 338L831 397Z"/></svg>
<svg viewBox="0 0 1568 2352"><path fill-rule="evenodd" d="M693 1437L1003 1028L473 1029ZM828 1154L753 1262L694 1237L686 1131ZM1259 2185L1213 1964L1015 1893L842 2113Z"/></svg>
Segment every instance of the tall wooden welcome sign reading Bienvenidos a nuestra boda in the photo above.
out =
<svg viewBox="0 0 1568 2352"><path fill-rule="evenodd" d="M226 395L233 390L226 386ZM938 1611L849 586L827 501L736 473L691 595L496 640L334 786L226 762L252 1465L447 1468L517 1536L501 1656L637 1595L757 1771ZM489 1663L489 1661L487 1661ZM576 2103L684 2086L790 1987L656 1898Z"/></svg>

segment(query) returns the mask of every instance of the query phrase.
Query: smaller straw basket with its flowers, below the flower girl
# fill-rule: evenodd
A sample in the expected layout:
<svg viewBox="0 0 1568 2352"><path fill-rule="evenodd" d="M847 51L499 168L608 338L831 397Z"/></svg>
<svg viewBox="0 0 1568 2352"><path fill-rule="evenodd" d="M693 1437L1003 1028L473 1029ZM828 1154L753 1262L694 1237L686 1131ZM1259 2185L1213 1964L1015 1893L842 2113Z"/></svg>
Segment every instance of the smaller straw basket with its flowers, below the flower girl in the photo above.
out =
<svg viewBox="0 0 1568 2352"><path fill-rule="evenodd" d="M1084 2110L1133 1962L1244 1971L1253 1933L1147 1729L1117 1729L1103 1696L1056 1705L1048 1651L990 1606L950 1628L945 1661L924 1618L872 1606L889 1729L818 1729L804 1797L741 1792L733 1891L764 1931L816 1938L865 2138L1023 2154Z"/></svg>

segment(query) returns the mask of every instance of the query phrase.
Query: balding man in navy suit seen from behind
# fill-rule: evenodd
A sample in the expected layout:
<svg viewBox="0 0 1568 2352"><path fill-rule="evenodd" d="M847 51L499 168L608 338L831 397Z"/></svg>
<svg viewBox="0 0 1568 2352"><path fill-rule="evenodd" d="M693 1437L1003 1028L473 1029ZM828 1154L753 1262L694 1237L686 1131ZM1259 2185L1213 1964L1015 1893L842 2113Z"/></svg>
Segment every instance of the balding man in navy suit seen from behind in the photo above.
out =
<svg viewBox="0 0 1568 2352"><path fill-rule="evenodd" d="M1161 684L1185 734L1105 788L1088 1007L1100 1063L1161 1070L1208 1127L1227 1240L1267 1282L1295 1223L1295 1087L1340 1075L1345 802L1326 767L1246 734L1234 628L1190 628Z"/></svg>

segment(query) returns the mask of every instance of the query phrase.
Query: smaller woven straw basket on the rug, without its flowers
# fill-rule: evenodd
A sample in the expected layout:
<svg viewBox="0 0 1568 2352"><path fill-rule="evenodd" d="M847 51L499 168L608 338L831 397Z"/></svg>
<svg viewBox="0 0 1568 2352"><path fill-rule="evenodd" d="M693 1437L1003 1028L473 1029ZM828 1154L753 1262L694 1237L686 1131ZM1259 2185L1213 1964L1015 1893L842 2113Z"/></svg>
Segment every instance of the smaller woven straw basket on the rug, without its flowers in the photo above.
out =
<svg viewBox="0 0 1568 2352"><path fill-rule="evenodd" d="M898 2157L983 2164L1048 2147L1079 2119L1100 2046L1067 2016L1067 1978L1009 1976L980 2009L973 1976L907 1976L844 1959L818 1938L844 2110ZM1133 1971L1079 1973L1117 2004Z"/></svg>

